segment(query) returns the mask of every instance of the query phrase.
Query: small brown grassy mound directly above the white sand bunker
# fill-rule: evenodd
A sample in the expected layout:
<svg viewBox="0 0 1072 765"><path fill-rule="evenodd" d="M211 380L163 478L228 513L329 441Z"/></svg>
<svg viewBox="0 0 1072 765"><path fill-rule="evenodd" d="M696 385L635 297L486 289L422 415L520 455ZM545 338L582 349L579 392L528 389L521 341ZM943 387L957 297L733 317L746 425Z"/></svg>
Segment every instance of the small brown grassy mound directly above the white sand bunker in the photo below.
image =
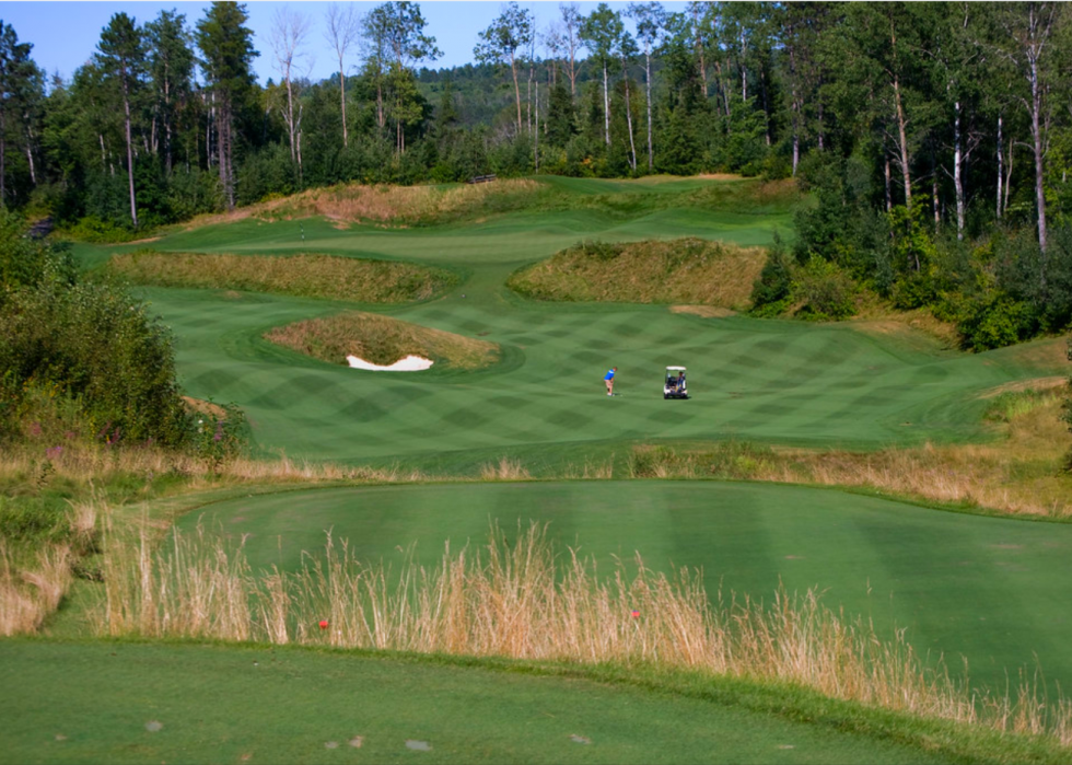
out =
<svg viewBox="0 0 1072 765"><path fill-rule="evenodd" d="M276 327L265 339L321 361L346 363L353 355L391 364L410 353L451 369L475 370L499 360L499 346L374 313L348 312Z"/></svg>

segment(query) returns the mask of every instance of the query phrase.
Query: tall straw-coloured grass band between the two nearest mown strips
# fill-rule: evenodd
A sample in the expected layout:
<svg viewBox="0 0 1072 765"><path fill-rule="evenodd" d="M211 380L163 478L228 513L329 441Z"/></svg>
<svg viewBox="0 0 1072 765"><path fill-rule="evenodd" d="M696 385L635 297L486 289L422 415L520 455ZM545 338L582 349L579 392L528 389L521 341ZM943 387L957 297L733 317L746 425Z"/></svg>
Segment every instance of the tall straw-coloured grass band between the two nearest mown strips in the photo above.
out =
<svg viewBox="0 0 1072 765"><path fill-rule="evenodd" d="M601 575L594 559L557 552L546 526L518 524L514 538L493 529L481 548L447 544L432 568L410 550L395 571L357 560L328 533L323 555L306 555L290 573L252 571L244 541L229 544L203 529L174 532L159 550L145 531L110 532L94 625L113 636L684 668L1072 744L1072 707L1046 699L1030 677L1013 697L971 691L941 663L927 667L902 631L882 640L814 590L779 591L770 604L721 592L712 601L697 571L667 576L638 555Z"/></svg>

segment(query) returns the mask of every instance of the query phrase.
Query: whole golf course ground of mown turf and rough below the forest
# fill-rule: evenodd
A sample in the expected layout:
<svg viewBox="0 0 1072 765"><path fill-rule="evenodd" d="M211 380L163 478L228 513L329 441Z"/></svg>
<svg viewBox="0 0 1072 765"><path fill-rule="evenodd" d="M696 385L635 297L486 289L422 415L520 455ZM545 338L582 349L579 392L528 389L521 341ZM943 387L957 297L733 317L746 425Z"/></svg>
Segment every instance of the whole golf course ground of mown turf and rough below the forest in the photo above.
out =
<svg viewBox="0 0 1072 765"><path fill-rule="evenodd" d="M1063 346L715 310L792 202L348 187L78 246L250 450L25 429L0 594L44 637L0 641L0 762L1067 760Z"/></svg>

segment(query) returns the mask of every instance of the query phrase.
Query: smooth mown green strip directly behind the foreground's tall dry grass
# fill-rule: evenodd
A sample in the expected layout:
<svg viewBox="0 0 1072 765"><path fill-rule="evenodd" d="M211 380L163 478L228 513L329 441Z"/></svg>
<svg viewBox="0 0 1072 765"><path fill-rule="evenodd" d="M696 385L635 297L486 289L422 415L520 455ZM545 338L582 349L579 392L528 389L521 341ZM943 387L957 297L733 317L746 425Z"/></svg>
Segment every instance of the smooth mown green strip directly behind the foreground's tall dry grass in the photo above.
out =
<svg viewBox="0 0 1072 765"><path fill-rule="evenodd" d="M944 654L976 683L1003 686L1006 670L1034 669L1072 686L1072 525L981 518L839 491L713 482L441 484L321 489L235 499L190 514L246 536L254 568L294 570L325 531L360 560L398 570L416 544L434 566L451 549L487 543L498 522L549 522L559 549L580 546L608 576L614 556L640 552L655 570L702 568L712 598L731 591L770 601L818 587L830 607L894 627L923 656Z"/></svg>

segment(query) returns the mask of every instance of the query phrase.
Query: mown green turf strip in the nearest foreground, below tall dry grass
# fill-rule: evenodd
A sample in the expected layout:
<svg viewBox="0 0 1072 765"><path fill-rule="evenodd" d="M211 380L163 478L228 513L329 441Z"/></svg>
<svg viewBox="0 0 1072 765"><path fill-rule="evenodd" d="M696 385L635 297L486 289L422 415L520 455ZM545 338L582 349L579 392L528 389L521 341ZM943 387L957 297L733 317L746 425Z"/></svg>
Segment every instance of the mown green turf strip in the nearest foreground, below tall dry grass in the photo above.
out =
<svg viewBox="0 0 1072 765"><path fill-rule="evenodd" d="M957 762L702 698L307 650L4 640L0 684L12 764Z"/></svg>

